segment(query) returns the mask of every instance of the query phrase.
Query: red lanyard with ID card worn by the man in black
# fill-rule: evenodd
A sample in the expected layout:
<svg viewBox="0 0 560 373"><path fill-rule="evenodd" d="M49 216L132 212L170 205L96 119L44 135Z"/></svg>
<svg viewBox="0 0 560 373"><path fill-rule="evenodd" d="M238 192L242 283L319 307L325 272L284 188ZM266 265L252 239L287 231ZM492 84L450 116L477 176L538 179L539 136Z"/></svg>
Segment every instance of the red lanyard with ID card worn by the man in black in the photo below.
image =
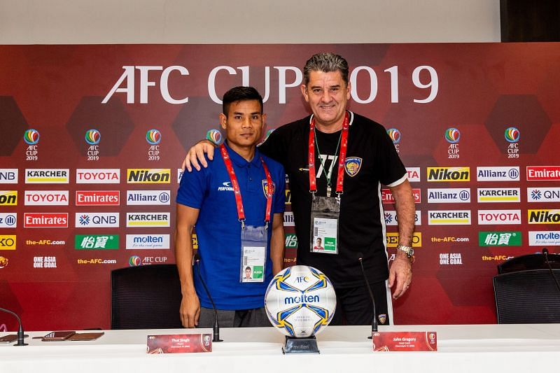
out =
<svg viewBox="0 0 560 373"><path fill-rule="evenodd" d="M317 182L315 175L315 119L309 123L309 192L313 196L311 202L311 234L309 248L311 253L337 254L339 243L339 217L340 197L344 192L344 161L346 160L346 147L348 145L349 118L348 113L344 115L342 122L342 134L340 153L338 156L338 176L336 197L330 196L330 188L327 188L327 196L316 196Z"/></svg>

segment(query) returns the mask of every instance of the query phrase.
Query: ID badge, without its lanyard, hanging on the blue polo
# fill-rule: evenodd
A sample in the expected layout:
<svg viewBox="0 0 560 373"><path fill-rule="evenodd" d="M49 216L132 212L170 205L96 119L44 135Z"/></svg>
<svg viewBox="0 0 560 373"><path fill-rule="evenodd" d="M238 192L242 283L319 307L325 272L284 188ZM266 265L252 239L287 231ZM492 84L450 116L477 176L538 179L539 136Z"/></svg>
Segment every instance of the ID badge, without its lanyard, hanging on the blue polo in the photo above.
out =
<svg viewBox="0 0 560 373"><path fill-rule="evenodd" d="M239 282L263 282L267 262L268 232L265 227L246 225L241 229Z"/></svg>

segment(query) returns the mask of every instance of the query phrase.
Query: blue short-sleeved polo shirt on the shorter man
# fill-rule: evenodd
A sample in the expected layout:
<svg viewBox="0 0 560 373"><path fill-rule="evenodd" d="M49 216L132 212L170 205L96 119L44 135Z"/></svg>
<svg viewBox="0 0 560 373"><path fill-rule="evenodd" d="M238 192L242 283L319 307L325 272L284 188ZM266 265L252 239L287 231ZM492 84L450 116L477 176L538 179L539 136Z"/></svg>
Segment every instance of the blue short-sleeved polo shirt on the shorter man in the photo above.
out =
<svg viewBox="0 0 560 373"><path fill-rule="evenodd" d="M281 164L255 150L255 157L247 162L226 143L245 210L245 224L265 225L267 199L265 195L265 170L260 158L265 161L274 183L271 219L274 213L285 209L286 174ZM264 307L266 288L272 280L270 260L270 237L272 221L268 229L267 262L265 281L241 283L241 223L237 218L237 207L230 176L225 168L221 152L216 149L214 160L201 171L184 172L177 192L177 203L200 209L196 223L200 274L206 282L218 309L254 309ZM197 274L193 269L195 289L202 307L212 308Z"/></svg>

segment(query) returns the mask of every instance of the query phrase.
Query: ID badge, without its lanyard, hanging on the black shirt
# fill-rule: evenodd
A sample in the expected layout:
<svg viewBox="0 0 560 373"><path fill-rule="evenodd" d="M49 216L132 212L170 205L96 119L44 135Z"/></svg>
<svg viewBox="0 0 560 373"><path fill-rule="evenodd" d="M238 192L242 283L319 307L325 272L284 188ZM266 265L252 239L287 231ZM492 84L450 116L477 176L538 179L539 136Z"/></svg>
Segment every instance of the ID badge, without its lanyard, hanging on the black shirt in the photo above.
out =
<svg viewBox="0 0 560 373"><path fill-rule="evenodd" d="M336 197L315 197L311 203L311 253L338 253L340 202Z"/></svg>

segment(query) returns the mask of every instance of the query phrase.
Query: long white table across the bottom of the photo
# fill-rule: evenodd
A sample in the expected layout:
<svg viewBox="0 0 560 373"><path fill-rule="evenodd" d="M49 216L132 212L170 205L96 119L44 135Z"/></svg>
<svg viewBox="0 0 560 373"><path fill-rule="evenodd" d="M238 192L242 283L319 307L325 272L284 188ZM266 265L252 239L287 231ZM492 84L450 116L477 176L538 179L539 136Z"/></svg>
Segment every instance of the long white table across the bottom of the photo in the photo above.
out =
<svg viewBox="0 0 560 373"><path fill-rule="evenodd" d="M317 336L321 354L284 356L273 328L223 328L211 353L148 355L146 336L209 330L106 330L90 342L0 346L0 372L557 372L560 325L402 325L380 331L435 331L437 352L373 353L370 327L332 326ZM2 333L3 335L4 333ZM46 332L27 332L31 337Z"/></svg>

